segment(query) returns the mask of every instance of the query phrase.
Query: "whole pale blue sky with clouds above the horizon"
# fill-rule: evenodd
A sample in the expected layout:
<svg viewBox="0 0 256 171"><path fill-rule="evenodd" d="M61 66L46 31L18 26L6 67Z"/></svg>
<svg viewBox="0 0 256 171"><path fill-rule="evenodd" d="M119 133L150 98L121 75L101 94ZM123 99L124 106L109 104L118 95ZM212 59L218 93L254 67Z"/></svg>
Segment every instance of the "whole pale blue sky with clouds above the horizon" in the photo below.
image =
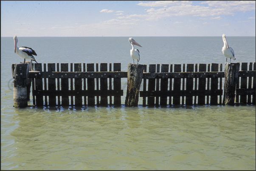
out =
<svg viewBox="0 0 256 171"><path fill-rule="evenodd" d="M255 36L256 1L1 1L1 36Z"/></svg>

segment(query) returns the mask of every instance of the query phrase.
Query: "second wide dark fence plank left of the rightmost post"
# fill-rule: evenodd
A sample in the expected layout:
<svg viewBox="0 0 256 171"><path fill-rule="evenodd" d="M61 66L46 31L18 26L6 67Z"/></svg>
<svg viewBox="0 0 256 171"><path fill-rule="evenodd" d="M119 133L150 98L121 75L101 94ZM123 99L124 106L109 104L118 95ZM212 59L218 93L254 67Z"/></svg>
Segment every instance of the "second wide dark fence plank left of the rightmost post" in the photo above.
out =
<svg viewBox="0 0 256 171"><path fill-rule="evenodd" d="M206 72L206 64L199 64L199 72ZM202 91L201 95L198 95L198 105L205 104L205 87L206 87L206 78L198 78L198 90Z"/></svg>

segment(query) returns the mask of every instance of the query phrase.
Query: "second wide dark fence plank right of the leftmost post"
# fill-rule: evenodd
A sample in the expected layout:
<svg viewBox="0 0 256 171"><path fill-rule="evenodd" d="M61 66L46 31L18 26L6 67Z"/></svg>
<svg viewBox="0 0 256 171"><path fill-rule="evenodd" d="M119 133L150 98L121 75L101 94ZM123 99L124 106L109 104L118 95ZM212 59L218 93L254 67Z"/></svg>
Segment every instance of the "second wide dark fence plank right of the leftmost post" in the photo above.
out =
<svg viewBox="0 0 256 171"><path fill-rule="evenodd" d="M48 72L55 71L55 63L48 63ZM48 90L56 90L56 80L55 78L48 78ZM49 95L49 106L56 106L56 94L52 93Z"/></svg>

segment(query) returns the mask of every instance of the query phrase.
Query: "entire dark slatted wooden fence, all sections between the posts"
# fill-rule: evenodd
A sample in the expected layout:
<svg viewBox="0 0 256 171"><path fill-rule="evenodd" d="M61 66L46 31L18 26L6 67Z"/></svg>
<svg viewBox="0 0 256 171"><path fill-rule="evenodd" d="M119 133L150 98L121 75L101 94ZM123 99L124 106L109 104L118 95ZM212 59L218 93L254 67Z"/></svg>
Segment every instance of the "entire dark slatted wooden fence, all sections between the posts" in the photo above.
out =
<svg viewBox="0 0 256 171"><path fill-rule="evenodd" d="M236 64L240 67L240 63ZM109 67L107 63L35 63L31 66L28 79L32 80L36 106L124 104L121 78L127 78L127 72L121 71L121 63L110 63ZM240 68L236 103L255 104L255 62L250 62L249 67L243 62ZM149 64L149 72L144 65L140 97L143 106L219 105L224 104L223 85L222 64Z"/></svg>

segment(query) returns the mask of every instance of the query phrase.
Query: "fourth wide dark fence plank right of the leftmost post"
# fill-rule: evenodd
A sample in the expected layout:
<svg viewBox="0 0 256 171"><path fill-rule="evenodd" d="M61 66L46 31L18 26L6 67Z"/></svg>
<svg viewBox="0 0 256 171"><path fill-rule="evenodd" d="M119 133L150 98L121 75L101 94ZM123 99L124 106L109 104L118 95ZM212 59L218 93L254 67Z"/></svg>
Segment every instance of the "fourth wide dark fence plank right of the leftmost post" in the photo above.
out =
<svg viewBox="0 0 256 171"><path fill-rule="evenodd" d="M74 64L74 71L81 72L82 71L82 64L75 63ZM79 75L79 74L78 74ZM75 106L82 106L82 78L76 78L75 76Z"/></svg>

